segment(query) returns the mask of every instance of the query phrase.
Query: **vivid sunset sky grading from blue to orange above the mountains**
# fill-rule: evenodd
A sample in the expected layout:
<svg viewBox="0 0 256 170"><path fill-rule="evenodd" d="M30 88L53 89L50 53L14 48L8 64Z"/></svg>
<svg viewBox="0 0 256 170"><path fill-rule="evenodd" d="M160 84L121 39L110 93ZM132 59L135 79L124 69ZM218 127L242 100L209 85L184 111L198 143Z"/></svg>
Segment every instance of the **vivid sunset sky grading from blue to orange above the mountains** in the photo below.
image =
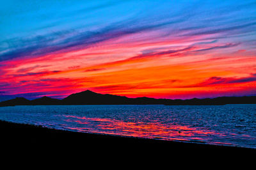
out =
<svg viewBox="0 0 256 170"><path fill-rule="evenodd" d="M0 100L256 95L256 1L2 1Z"/></svg>

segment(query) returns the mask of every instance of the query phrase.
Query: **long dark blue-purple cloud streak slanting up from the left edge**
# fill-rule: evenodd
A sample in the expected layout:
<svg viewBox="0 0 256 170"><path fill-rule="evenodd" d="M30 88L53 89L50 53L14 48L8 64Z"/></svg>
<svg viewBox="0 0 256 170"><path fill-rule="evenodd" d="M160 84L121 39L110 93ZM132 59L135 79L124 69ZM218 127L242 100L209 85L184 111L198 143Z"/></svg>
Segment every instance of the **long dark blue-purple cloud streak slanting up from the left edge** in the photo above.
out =
<svg viewBox="0 0 256 170"><path fill-rule="evenodd" d="M95 31L79 31L73 29L46 35L31 36L31 38L14 38L5 41L5 43L8 43L8 49L0 53L0 61L43 56L52 52L78 50L122 36L160 29L161 27L182 22L183 20L163 20L143 26L132 24L134 20L125 20Z"/></svg>

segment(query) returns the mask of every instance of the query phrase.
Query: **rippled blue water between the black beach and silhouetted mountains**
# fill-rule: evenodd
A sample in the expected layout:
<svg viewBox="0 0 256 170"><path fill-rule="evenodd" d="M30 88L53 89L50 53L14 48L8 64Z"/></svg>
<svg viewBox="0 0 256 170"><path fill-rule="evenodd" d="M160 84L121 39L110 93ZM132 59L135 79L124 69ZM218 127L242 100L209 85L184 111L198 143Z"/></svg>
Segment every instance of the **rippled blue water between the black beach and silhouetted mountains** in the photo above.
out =
<svg viewBox="0 0 256 170"><path fill-rule="evenodd" d="M97 134L256 148L256 105L32 105L0 120Z"/></svg>

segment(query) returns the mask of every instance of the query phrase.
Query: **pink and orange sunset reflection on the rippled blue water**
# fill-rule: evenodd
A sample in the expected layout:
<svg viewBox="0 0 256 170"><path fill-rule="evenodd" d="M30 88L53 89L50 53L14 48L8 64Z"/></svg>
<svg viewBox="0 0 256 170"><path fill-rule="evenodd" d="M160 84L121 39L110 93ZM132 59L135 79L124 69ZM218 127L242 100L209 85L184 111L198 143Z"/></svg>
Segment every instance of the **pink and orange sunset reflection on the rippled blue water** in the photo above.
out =
<svg viewBox="0 0 256 170"><path fill-rule="evenodd" d="M175 123L132 122L109 118L87 118L74 115L65 115L65 118L67 118L67 122L75 123L74 126L66 128L79 132L197 142L205 141L205 137L207 136L225 135L207 129L177 125Z"/></svg>

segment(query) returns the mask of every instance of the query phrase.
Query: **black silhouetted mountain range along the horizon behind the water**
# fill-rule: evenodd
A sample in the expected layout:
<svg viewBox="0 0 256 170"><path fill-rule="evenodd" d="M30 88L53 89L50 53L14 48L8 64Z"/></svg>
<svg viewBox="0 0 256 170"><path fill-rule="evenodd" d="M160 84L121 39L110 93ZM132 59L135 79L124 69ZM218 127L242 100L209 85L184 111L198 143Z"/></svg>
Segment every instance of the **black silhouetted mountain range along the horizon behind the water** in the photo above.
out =
<svg viewBox="0 0 256 170"><path fill-rule="evenodd" d="M118 95L102 95L90 90L74 93L62 100L56 98L42 97L35 100L28 100L17 97L12 100L0 102L0 106L12 105L225 105L225 104L256 104L256 97L217 97L217 98L192 98L180 99L156 99L148 97L128 98Z"/></svg>

